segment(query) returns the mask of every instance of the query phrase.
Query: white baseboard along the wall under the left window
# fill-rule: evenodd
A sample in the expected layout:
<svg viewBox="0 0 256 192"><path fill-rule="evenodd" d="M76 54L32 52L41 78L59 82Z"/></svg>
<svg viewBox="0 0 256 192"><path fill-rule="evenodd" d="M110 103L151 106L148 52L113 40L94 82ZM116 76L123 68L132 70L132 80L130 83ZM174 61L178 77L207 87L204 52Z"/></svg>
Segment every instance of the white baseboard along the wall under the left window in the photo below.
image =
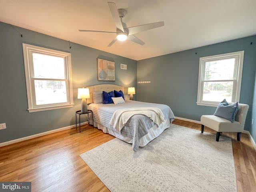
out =
<svg viewBox="0 0 256 192"><path fill-rule="evenodd" d="M82 125L86 125L86 124L88 124L88 121L81 123L81 126ZM79 128L79 124L77 124L77 125L78 125L78 128ZM72 129L74 127L76 127L75 124L67 126L67 127L62 127L62 128L59 128L59 129L54 129L54 130L51 130L51 131L46 131L46 132L38 133L38 134L35 134L35 135L30 135L30 136L27 136L27 137L18 138L18 139L11 140L11 141L6 141L6 142L3 142L3 143L0 143L0 147L6 146L6 145L10 145L10 144L14 144L14 143L21 142L21 141L25 141L25 140L28 140L28 139L33 139L33 138L36 138L36 137L40 137L40 136L44 136L44 135L48 135L48 134L64 131L64 130L67 130L67 129Z"/></svg>

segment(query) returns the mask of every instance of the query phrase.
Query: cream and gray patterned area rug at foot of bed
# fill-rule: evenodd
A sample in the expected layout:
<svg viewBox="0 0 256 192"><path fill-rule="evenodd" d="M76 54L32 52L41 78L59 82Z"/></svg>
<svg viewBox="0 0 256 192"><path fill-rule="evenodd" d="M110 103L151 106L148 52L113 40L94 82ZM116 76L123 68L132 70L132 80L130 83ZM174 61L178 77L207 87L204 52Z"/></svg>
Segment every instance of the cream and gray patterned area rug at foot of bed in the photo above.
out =
<svg viewBox="0 0 256 192"><path fill-rule="evenodd" d="M81 158L112 192L236 192L230 138L178 126L140 147L117 138Z"/></svg>

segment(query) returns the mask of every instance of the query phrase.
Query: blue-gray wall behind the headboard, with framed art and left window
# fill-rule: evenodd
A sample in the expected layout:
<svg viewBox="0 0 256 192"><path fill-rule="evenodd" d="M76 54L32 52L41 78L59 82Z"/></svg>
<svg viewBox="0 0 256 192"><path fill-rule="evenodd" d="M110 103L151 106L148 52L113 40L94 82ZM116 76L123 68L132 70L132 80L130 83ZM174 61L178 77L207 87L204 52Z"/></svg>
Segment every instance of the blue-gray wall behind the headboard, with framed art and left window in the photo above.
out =
<svg viewBox="0 0 256 192"><path fill-rule="evenodd" d="M78 88L102 83L117 84L124 86L127 94L128 87L136 87L136 60L72 42L69 44L68 41L3 22L0 22L0 34L0 123L6 123L7 127L0 130L0 143L74 125L75 111L80 110L81 105L81 100L77 99ZM71 53L74 107L28 112L22 43ZM115 62L116 81L97 80L97 58ZM120 63L127 64L127 70L121 70Z"/></svg>

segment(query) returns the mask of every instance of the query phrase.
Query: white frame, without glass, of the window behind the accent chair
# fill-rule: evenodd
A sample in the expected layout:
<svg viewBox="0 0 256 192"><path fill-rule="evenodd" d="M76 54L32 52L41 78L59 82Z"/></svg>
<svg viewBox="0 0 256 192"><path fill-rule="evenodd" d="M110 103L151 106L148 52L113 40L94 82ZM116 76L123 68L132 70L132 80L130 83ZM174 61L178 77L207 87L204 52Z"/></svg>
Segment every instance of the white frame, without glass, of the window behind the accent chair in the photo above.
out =
<svg viewBox="0 0 256 192"><path fill-rule="evenodd" d="M221 102L210 102L203 100L203 88L204 82L204 72L206 62L222 60L228 58L235 58L235 66L234 66L234 79L233 81L233 93L232 93L232 102L239 101L240 99L240 90L241 90L241 82L242 82L242 70L243 70L243 62L244 62L244 51L219 54L214 56L201 57L199 60L199 75L198 75L198 93L197 93L197 105L203 106L218 106L218 103ZM210 80L209 82L218 82L218 81L226 81L226 80Z"/></svg>

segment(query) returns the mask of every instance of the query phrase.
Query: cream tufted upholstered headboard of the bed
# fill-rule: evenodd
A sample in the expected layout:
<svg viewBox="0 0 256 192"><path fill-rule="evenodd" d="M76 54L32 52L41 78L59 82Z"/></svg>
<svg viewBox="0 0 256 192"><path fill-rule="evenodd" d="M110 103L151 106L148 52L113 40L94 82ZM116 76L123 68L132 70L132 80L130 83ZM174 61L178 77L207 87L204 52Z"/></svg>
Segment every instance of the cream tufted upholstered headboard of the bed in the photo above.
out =
<svg viewBox="0 0 256 192"><path fill-rule="evenodd" d="M86 88L89 88L89 92L90 92L90 98L86 99L88 104L93 103L92 92L96 92L96 91L110 92L114 90L117 90L117 91L122 90L122 92L124 92L124 87L119 85L113 85L113 84L100 84L100 85L88 86Z"/></svg>

